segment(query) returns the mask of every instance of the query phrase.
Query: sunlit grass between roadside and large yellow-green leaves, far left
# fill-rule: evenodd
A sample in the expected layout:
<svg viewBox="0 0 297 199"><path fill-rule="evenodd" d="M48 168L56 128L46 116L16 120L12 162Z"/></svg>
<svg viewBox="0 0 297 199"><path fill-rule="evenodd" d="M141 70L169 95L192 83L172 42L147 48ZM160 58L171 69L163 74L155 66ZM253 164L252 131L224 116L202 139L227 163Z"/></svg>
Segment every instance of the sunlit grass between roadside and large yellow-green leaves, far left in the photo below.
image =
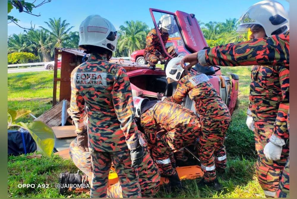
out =
<svg viewBox="0 0 297 199"><path fill-rule="evenodd" d="M58 70L58 77L60 76ZM26 109L38 117L52 107L53 71L23 72L8 74L8 108L13 110ZM59 100L60 83L57 83L57 100ZM30 115L17 120L28 122L33 120Z"/></svg>

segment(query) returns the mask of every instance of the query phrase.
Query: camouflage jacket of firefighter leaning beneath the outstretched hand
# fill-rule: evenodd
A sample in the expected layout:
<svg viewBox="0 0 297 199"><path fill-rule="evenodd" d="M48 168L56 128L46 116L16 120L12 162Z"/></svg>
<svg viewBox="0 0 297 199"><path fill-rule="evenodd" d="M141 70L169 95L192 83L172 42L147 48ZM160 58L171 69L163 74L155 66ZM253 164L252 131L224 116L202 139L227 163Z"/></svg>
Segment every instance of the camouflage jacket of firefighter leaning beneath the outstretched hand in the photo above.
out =
<svg viewBox="0 0 297 199"><path fill-rule="evenodd" d="M187 95L195 102L195 109L203 120L220 120L222 115L230 115L227 105L203 73L189 72L179 80L175 93L164 101L180 103Z"/></svg>

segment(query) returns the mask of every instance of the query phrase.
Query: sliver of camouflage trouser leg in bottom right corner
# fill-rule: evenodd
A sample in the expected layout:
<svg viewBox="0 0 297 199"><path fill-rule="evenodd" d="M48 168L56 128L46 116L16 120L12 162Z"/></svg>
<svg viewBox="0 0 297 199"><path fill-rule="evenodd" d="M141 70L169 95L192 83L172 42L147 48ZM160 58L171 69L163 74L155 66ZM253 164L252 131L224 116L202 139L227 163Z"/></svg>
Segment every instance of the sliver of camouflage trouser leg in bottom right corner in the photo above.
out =
<svg viewBox="0 0 297 199"><path fill-rule="evenodd" d="M277 198L289 198L290 197L290 160L287 159L285 169L282 171L282 175L279 180L279 187L277 189Z"/></svg>

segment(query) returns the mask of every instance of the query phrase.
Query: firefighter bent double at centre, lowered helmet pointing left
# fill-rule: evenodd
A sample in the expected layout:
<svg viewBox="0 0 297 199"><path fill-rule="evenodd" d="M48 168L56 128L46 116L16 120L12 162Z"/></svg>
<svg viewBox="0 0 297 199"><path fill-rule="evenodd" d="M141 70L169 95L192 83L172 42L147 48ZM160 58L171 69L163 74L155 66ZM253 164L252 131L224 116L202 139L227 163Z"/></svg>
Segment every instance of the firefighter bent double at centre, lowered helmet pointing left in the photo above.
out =
<svg viewBox="0 0 297 199"><path fill-rule="evenodd" d="M195 144L200 132L199 118L189 109L165 101L133 97L138 127L146 137L161 176L169 179L169 188L182 188L175 169L173 153Z"/></svg>

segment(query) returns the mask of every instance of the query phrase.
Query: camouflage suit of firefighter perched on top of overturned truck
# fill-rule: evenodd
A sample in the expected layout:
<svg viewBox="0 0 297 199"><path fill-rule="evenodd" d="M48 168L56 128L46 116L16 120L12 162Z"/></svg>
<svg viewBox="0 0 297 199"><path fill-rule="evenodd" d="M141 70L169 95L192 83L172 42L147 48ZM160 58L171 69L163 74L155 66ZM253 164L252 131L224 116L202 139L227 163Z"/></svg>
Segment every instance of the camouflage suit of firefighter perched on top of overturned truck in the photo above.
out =
<svg viewBox="0 0 297 199"><path fill-rule="evenodd" d="M169 34L162 31L160 31L160 33L163 44L166 45ZM174 46L167 47L166 51L173 57L178 56L177 49ZM158 61L165 60L167 57L162 49L162 45L160 44L156 29L152 29L146 36L146 48L144 49L143 56L144 59L149 62L150 66L155 66ZM170 59L168 59L166 62L169 60Z"/></svg>

